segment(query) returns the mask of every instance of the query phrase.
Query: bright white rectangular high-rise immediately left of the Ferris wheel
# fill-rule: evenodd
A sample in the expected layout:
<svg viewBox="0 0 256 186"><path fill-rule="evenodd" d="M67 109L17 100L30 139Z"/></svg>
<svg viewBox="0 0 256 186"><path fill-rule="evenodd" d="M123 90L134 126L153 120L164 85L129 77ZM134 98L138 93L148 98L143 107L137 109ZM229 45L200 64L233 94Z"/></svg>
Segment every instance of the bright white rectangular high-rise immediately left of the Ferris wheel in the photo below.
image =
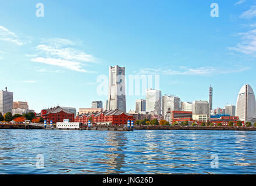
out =
<svg viewBox="0 0 256 186"><path fill-rule="evenodd" d="M161 115L161 97L162 91L153 90L152 88L146 90L146 112L157 112Z"/></svg>

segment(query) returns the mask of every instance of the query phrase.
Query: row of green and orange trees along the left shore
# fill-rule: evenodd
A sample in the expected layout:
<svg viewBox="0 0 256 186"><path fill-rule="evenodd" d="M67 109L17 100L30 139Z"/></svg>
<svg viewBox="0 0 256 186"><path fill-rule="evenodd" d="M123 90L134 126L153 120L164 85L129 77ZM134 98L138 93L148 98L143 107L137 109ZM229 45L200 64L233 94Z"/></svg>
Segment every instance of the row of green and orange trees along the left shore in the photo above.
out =
<svg viewBox="0 0 256 186"><path fill-rule="evenodd" d="M18 123L23 122L25 120L30 120L30 121L35 122L35 123L44 122L44 119L42 119L41 117L36 118L33 112L29 112L29 113L26 113L24 115L19 115L19 114L12 115L11 112L6 113L5 115L2 115L2 113L0 113L0 121L10 122L12 120L16 121Z"/></svg>

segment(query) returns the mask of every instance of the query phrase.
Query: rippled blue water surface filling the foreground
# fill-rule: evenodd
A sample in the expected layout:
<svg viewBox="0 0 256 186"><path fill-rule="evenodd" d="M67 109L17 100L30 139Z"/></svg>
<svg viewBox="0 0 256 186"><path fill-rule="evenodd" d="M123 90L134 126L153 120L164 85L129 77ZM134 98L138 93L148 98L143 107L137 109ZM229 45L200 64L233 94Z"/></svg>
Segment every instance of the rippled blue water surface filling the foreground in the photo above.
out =
<svg viewBox="0 0 256 186"><path fill-rule="evenodd" d="M256 174L255 143L256 131L0 130L0 174Z"/></svg>

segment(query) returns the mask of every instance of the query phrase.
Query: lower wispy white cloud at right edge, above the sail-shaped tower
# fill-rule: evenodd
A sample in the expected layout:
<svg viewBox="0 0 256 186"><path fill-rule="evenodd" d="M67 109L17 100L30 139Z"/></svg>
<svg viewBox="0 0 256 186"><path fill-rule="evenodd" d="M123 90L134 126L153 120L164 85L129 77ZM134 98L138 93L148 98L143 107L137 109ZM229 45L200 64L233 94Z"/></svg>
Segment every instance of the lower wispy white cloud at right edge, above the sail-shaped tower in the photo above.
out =
<svg viewBox="0 0 256 186"><path fill-rule="evenodd" d="M256 56L256 29L237 35L241 36L242 41L236 47L229 47L229 49Z"/></svg>

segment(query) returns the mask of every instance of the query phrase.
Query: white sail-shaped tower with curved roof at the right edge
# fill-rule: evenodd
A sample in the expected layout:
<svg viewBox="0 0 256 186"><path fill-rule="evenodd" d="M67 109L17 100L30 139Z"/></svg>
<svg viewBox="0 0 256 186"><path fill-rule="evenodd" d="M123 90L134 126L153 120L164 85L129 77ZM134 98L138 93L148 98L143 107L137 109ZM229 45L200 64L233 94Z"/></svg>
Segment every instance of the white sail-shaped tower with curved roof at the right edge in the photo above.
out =
<svg viewBox="0 0 256 186"><path fill-rule="evenodd" d="M245 84L239 91L236 101L236 116L241 121L252 121L256 118L256 102L253 88Z"/></svg>

